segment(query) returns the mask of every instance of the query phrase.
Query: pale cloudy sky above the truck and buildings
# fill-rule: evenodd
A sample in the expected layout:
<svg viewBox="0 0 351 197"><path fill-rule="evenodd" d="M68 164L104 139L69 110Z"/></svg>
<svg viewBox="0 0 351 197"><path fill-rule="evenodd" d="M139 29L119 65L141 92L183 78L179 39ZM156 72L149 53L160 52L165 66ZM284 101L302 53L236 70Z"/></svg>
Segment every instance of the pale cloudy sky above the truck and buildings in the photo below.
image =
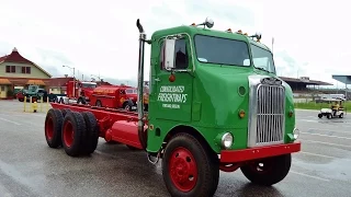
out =
<svg viewBox="0 0 351 197"><path fill-rule="evenodd" d="M344 1L278 0L0 0L0 55L16 47L54 77L71 74L132 82L137 79L140 19L148 36L159 28L203 22L216 30L262 33L272 46L279 76L309 77L335 83L331 74L351 74ZM351 19L351 18L350 18ZM149 48L146 46L146 58ZM148 66L149 60L145 61ZM148 78L149 68L145 70ZM339 83L339 86L341 83Z"/></svg>

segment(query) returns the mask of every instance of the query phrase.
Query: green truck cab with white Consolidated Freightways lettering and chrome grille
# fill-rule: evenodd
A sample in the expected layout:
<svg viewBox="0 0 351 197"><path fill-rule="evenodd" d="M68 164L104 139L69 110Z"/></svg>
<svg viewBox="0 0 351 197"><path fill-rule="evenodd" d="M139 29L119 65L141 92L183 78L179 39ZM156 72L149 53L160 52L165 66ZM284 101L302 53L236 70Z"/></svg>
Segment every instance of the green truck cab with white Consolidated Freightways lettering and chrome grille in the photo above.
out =
<svg viewBox="0 0 351 197"><path fill-rule="evenodd" d="M180 127L204 139L229 135L233 143L210 143L216 153L294 141L293 93L260 39L196 25L155 32L148 117L159 136L148 150Z"/></svg>

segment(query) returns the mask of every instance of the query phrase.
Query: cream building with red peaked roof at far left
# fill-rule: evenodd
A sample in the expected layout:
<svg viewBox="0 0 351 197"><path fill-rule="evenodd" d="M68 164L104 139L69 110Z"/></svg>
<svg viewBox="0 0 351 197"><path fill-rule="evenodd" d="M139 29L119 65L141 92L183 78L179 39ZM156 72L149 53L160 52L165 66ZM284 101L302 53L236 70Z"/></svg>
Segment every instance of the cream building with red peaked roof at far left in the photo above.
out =
<svg viewBox="0 0 351 197"><path fill-rule="evenodd" d="M12 97L30 84L47 89L50 78L47 71L21 56L16 48L0 57L0 99Z"/></svg>

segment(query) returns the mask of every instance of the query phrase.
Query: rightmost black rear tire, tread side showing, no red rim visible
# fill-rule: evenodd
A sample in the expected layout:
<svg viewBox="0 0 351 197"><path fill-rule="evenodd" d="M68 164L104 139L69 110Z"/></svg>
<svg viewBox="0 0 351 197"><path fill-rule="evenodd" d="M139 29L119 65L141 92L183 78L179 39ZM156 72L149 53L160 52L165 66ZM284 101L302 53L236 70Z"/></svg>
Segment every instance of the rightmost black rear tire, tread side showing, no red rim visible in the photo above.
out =
<svg viewBox="0 0 351 197"><path fill-rule="evenodd" d="M95 151L99 142L99 125L98 120L93 113L91 112L82 112L81 113L87 127L87 136L83 140L84 143L84 154L91 154Z"/></svg>

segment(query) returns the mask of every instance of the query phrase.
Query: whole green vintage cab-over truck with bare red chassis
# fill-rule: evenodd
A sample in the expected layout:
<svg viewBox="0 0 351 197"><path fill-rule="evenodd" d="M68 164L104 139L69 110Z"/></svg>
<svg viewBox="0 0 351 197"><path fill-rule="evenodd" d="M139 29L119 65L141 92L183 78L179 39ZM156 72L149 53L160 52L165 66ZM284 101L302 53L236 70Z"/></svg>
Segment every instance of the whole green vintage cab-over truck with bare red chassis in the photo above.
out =
<svg viewBox="0 0 351 197"><path fill-rule="evenodd" d="M276 77L260 34L214 31L213 25L206 19L146 39L137 20L137 112L52 103L47 144L63 147L70 157L93 153L99 138L144 150L149 162L161 159L171 196L213 196L219 171L240 169L265 186L283 181L291 154L301 151L292 89ZM151 46L147 113L145 44Z"/></svg>

